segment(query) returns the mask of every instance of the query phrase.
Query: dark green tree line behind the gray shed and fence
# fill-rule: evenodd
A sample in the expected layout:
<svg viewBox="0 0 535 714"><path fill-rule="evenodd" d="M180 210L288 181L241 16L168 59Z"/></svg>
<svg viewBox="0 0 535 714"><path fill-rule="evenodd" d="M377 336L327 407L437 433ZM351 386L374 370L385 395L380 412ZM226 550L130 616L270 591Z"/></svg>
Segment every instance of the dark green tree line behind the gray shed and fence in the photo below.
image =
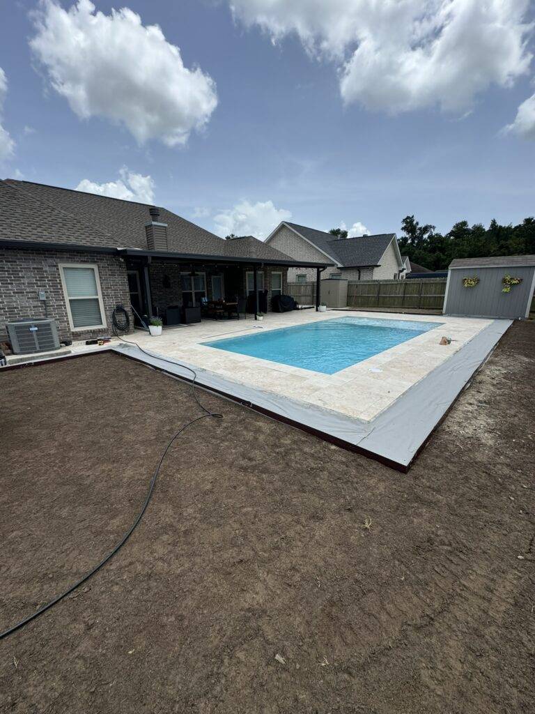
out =
<svg viewBox="0 0 535 714"><path fill-rule="evenodd" d="M331 228L329 233L347 238L342 228ZM468 221L459 221L442 235L435 226L421 225L414 216L405 216L398 244L402 255L429 270L446 270L454 258L534 255L535 218L524 218L517 226L501 226L492 220L489 228L482 223L469 226Z"/></svg>

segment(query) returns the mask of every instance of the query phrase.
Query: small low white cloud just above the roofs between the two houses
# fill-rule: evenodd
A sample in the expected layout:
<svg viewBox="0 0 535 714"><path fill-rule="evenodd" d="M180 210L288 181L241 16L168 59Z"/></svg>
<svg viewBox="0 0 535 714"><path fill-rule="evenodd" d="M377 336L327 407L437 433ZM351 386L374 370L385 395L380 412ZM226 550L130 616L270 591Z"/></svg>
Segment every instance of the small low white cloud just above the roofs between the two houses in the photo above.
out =
<svg viewBox="0 0 535 714"><path fill-rule="evenodd" d="M289 221L292 213L275 208L272 201L240 201L233 208L214 216L215 233L219 236L255 236L263 241L280 221Z"/></svg>

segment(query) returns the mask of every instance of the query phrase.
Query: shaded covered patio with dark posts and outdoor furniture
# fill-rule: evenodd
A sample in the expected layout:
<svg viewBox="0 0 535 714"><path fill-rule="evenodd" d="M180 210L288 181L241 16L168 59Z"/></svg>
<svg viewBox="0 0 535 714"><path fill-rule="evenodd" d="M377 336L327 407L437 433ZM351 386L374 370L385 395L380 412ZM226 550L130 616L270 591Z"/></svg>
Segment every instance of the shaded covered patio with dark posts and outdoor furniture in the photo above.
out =
<svg viewBox="0 0 535 714"><path fill-rule="evenodd" d="M238 243L238 240L233 243ZM247 248L239 239L239 248ZM237 246L238 247L238 246ZM200 322L202 318L255 319L277 311L277 300L287 294L288 268L315 268L315 309L321 302L321 273L329 263L292 258L215 256L125 248L128 288L136 326L151 316L164 326Z"/></svg>

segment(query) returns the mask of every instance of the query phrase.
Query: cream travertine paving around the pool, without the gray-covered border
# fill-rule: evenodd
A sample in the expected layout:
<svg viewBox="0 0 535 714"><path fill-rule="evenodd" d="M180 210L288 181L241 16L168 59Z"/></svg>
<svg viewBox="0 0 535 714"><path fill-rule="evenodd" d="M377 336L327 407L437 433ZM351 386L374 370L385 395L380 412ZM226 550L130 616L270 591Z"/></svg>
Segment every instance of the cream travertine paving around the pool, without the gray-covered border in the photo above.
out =
<svg viewBox="0 0 535 714"><path fill-rule="evenodd" d="M258 331L332 320L351 314L375 320L410 320L442 323L365 361L335 374L312 372L260 358L215 349L202 344L221 338L246 336ZM347 313L312 310L269 313L262 322L247 320L205 320L190 326L165 329L152 337L144 331L133 336L141 347L154 354L208 370L225 379L319 406L344 416L371 421L409 388L457 353L493 321L437 315L407 315L358 311ZM449 345L440 345L445 335Z"/></svg>

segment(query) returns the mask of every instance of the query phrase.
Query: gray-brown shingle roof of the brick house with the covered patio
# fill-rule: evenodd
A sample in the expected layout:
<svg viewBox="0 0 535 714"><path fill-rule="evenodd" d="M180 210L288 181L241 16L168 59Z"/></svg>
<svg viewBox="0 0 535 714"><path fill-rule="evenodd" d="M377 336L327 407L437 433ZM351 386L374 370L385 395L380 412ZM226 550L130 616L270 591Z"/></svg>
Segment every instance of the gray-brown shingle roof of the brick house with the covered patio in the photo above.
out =
<svg viewBox="0 0 535 714"><path fill-rule="evenodd" d="M6 179L0 181L0 238L146 251L149 208L146 203ZM158 220L168 224L170 252L292 260L253 236L225 241L166 208L159 210Z"/></svg>

